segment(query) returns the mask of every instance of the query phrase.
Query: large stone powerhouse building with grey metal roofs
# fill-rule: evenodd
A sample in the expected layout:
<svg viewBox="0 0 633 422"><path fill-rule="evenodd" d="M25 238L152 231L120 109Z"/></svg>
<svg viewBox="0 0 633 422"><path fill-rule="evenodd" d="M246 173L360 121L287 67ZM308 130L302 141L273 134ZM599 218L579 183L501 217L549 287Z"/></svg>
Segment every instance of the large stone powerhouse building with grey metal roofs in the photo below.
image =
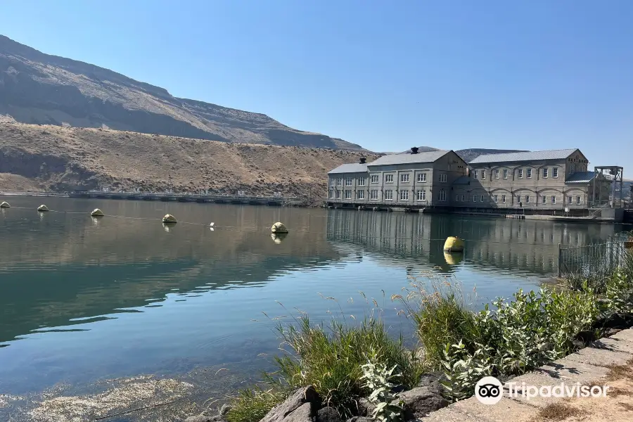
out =
<svg viewBox="0 0 633 422"><path fill-rule="evenodd" d="M610 186L588 166L578 149L486 154L466 164L454 151L411 148L329 172L328 204L587 215L594 186L607 198Z"/></svg>

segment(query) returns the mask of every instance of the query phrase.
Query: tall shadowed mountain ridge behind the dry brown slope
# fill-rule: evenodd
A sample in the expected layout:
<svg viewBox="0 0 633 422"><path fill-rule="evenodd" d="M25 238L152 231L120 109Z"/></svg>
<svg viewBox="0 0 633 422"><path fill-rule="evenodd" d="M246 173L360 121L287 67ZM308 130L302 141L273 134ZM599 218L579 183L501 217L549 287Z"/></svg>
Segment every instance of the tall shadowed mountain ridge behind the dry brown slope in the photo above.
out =
<svg viewBox="0 0 633 422"><path fill-rule="evenodd" d="M271 117L172 96L166 89L0 35L0 115L18 122L182 136L210 141L364 151Z"/></svg>

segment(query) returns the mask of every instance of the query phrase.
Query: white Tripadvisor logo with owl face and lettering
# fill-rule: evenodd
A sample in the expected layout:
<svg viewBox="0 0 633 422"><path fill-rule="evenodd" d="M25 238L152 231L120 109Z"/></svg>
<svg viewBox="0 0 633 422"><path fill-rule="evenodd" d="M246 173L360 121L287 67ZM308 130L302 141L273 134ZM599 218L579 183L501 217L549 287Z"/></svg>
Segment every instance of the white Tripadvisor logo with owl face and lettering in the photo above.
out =
<svg viewBox="0 0 633 422"><path fill-rule="evenodd" d="M560 383L556 385L528 385L507 383L508 397L532 399L534 397L606 397L608 385L581 385ZM485 376L475 384L475 397L482 404L497 404L503 397L504 385L494 376Z"/></svg>

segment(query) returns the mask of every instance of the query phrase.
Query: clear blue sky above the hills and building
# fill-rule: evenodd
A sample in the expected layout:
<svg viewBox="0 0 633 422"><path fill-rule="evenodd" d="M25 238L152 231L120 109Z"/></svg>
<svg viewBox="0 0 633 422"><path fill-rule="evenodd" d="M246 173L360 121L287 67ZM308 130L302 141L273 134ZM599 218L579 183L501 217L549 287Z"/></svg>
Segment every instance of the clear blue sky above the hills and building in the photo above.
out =
<svg viewBox="0 0 633 422"><path fill-rule="evenodd" d="M0 33L373 151L579 147L633 175L631 0L5 0Z"/></svg>

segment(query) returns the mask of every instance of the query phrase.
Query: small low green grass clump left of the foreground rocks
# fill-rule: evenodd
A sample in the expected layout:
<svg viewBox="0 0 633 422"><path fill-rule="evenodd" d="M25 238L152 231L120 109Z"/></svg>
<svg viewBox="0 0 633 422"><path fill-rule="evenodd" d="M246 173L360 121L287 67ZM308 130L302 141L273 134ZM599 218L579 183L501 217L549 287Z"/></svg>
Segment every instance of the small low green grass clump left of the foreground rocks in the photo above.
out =
<svg viewBox="0 0 633 422"><path fill-rule="evenodd" d="M229 422L259 422L276 404L287 395L275 390L261 388L240 390L231 400L231 410L226 414Z"/></svg>

